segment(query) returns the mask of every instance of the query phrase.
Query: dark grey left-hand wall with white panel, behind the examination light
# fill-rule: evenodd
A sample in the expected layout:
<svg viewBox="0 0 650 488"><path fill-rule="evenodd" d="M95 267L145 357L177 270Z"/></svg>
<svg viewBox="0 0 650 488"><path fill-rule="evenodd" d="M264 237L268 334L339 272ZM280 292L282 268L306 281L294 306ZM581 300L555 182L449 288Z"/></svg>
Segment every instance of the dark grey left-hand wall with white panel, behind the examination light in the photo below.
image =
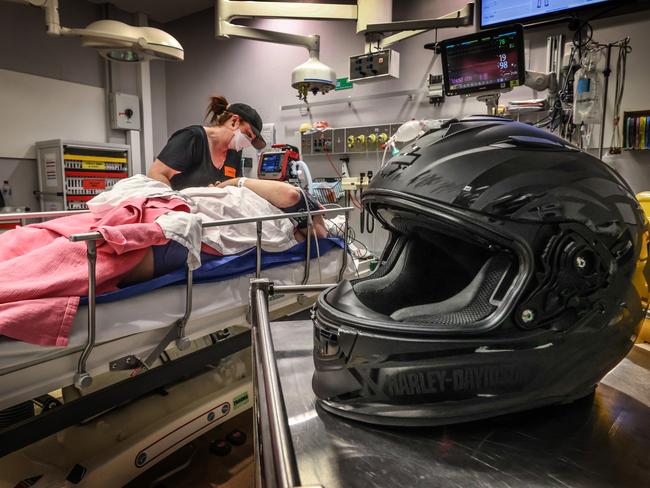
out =
<svg viewBox="0 0 650 488"><path fill-rule="evenodd" d="M60 2L60 16L66 27L85 27L103 18L135 24L130 13L84 0ZM110 64L113 90L137 94L137 67ZM49 37L41 9L0 1L0 70L39 87L32 93L26 94L22 88L13 93L12 87L6 83L2 86L0 81L0 183L10 182L15 206L39 209L33 195L38 189L34 142L52 138L88 140L79 134L87 133L89 126L97 134L89 142L126 142L123 131L110 129L106 106L101 101L106 93L107 63L94 49L82 47L79 39ZM155 145L167 138L164 77L164 63L151 63ZM59 87L66 83L83 85L85 91L96 90L96 98L100 99L97 110L89 115L87 107L80 107L80 101L73 96L57 97ZM25 112L28 115L19 120L7 116ZM79 116L81 113L84 116ZM164 140L156 140L156 136Z"/></svg>

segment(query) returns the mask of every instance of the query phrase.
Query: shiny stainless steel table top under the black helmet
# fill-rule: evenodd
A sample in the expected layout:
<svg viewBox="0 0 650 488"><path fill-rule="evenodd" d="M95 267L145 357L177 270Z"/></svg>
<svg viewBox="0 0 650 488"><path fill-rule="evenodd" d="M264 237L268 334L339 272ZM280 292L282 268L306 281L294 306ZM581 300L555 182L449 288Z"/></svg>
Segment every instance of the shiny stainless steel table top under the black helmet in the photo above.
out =
<svg viewBox="0 0 650 488"><path fill-rule="evenodd" d="M309 321L271 324L303 486L650 487L650 349L594 397L436 428L373 427L315 406Z"/></svg>

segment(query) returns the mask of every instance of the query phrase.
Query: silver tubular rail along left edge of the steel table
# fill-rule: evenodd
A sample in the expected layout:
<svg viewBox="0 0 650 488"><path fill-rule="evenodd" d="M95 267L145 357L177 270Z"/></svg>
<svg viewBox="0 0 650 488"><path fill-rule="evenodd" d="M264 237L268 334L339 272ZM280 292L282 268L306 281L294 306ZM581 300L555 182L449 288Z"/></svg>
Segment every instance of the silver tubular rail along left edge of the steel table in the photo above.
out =
<svg viewBox="0 0 650 488"><path fill-rule="evenodd" d="M274 285L268 279L252 279L250 288L255 391L255 463L257 486L301 486L296 454L291 441L269 322L269 296L274 293L324 291L335 284ZM261 448L260 448L261 447Z"/></svg>

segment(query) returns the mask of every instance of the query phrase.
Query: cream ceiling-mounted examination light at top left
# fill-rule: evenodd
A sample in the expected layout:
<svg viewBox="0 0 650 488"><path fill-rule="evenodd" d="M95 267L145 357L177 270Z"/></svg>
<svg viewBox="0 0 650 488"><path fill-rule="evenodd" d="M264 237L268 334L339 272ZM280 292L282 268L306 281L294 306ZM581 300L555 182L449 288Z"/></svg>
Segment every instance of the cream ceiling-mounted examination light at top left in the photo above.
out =
<svg viewBox="0 0 650 488"><path fill-rule="evenodd" d="M183 60L183 46L160 29L136 27L116 20L98 20L85 29L70 29L61 26L58 0L8 1L42 8L49 35L80 37L82 46L97 49L111 61Z"/></svg>

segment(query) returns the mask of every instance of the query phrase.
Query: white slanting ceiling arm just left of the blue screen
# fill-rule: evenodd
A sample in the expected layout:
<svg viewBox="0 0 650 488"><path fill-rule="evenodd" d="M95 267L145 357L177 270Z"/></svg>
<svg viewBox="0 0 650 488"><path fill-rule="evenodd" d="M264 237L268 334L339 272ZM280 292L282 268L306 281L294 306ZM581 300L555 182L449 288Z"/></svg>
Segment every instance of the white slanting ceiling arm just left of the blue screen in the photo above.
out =
<svg viewBox="0 0 650 488"><path fill-rule="evenodd" d="M417 36L432 29L463 27L474 23L474 4L468 3L463 8L449 12L437 19L406 20L388 24L371 24L366 29L366 37L378 32L402 31L379 40L379 49L385 49L396 42Z"/></svg>

